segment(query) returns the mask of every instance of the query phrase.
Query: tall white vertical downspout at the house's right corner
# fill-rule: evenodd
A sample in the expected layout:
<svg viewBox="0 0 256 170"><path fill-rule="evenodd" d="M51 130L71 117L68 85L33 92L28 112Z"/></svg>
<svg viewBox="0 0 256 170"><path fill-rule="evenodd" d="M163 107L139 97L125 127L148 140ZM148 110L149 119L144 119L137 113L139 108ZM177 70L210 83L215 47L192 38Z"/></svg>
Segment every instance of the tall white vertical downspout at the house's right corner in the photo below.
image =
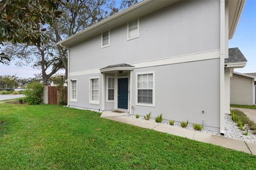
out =
<svg viewBox="0 0 256 170"><path fill-rule="evenodd" d="M225 134L225 0L220 0L220 134Z"/></svg>

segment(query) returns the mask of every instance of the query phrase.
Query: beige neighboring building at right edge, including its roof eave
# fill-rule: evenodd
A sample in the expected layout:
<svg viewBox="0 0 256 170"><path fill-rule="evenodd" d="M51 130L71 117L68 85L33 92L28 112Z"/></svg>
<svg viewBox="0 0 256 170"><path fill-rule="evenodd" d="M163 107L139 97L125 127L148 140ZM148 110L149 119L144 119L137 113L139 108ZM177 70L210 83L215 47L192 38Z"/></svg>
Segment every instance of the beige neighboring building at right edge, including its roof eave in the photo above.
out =
<svg viewBox="0 0 256 170"><path fill-rule="evenodd" d="M255 105L256 73L234 72L230 77L230 104Z"/></svg>

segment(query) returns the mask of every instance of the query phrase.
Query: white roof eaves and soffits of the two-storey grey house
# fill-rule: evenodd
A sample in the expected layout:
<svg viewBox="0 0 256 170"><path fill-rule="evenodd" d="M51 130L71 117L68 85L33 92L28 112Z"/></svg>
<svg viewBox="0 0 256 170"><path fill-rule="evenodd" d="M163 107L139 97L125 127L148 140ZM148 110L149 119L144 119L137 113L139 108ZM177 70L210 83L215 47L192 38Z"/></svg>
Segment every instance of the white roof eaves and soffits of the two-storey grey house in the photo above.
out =
<svg viewBox="0 0 256 170"><path fill-rule="evenodd" d="M92 36L98 35L102 31L113 29L119 25L127 23L135 18L144 16L160 8L163 8L172 3L178 2L180 0L169 0L169 1L159 1L159 0L142 0L125 10L118 12L108 18L97 22L90 27L76 33L60 42L57 45L69 47L80 41L83 41ZM243 11L245 0L228 0L228 10L229 10L229 39L233 38L237 23Z"/></svg>

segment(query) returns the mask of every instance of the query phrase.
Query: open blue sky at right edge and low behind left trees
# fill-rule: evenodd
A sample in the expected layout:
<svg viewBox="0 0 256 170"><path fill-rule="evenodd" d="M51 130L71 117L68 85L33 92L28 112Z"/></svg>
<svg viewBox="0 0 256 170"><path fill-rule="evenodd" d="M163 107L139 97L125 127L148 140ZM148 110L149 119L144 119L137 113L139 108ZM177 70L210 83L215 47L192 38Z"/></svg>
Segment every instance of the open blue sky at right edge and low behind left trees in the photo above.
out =
<svg viewBox="0 0 256 170"><path fill-rule="evenodd" d="M256 72L256 0L247 0L243 13L238 22L233 39L229 40L229 48L238 47L247 59L244 68L235 69L236 72ZM33 69L31 65L18 67L15 61L10 65L0 64L0 75L14 75L23 78L33 78L41 71ZM63 71L59 71L63 73Z"/></svg>

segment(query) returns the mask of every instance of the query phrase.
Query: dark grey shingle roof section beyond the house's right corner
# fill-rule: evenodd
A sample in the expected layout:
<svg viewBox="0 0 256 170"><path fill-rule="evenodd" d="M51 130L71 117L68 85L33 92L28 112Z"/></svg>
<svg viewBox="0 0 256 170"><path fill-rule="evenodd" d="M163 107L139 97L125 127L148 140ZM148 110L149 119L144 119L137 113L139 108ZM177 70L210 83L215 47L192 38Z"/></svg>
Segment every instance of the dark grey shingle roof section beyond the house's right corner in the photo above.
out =
<svg viewBox="0 0 256 170"><path fill-rule="evenodd" d="M239 63L239 62L247 62L243 53L239 50L239 48L229 48L228 49L228 58L225 59L225 63Z"/></svg>

